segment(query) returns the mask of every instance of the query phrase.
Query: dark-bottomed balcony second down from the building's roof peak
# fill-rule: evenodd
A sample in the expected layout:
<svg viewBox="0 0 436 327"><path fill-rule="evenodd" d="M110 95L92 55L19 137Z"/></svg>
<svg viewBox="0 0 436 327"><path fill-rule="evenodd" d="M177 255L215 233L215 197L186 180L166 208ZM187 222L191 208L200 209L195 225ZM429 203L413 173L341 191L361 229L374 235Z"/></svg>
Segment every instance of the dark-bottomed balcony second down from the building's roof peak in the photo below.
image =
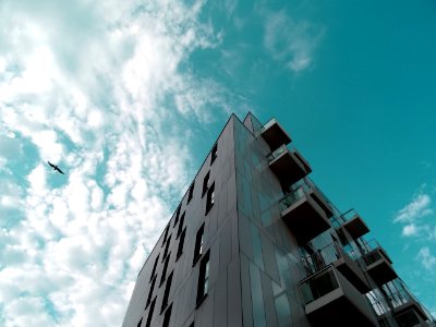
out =
<svg viewBox="0 0 436 327"><path fill-rule="evenodd" d="M269 168L274 171L282 184L293 184L312 172L308 162L300 153L286 145L280 146L267 156Z"/></svg>

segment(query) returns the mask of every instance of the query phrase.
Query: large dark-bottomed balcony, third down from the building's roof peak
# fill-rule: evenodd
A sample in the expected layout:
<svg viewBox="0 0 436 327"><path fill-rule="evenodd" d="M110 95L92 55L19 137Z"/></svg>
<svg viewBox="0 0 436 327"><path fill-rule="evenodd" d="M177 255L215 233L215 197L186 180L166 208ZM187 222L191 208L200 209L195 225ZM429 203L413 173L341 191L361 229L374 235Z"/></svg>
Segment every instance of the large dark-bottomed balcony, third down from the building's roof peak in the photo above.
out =
<svg viewBox="0 0 436 327"><path fill-rule="evenodd" d="M308 184L302 184L279 203L281 218L300 243L307 243L330 228L326 211L319 205L327 206L327 203L317 196Z"/></svg>

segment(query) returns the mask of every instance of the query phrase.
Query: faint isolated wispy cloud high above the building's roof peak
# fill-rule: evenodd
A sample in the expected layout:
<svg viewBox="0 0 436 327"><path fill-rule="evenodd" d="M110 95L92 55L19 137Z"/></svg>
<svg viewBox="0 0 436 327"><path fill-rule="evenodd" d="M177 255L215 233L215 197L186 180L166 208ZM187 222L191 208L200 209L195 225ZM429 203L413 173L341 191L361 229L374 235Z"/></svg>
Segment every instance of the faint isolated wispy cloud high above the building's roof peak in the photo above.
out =
<svg viewBox="0 0 436 327"><path fill-rule="evenodd" d="M294 21L284 11L279 11L266 17L264 45L275 60L300 72L312 65L323 35L323 27L307 21Z"/></svg>

